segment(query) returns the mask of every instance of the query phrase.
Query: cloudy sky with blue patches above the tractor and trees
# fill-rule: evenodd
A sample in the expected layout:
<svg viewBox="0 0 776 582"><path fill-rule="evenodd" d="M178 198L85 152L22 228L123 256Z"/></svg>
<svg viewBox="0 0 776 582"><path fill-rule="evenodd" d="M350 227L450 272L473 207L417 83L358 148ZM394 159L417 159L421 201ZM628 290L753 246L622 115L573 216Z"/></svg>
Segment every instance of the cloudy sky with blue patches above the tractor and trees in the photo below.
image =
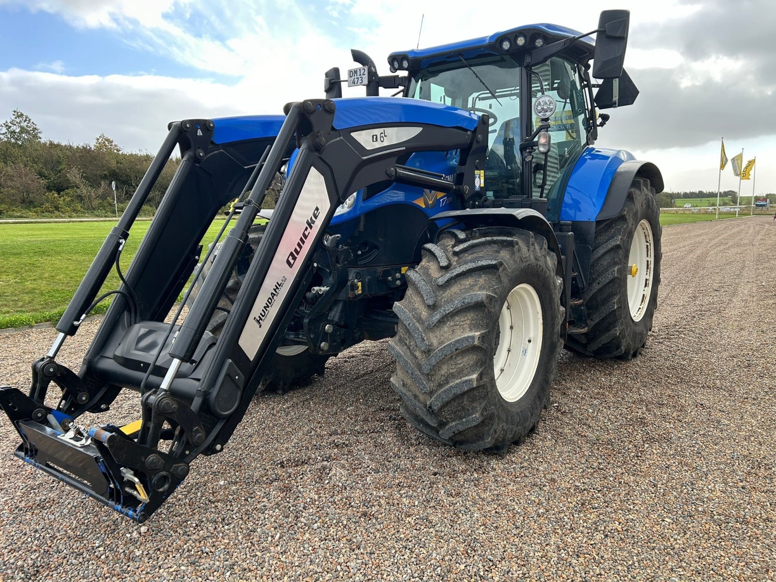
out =
<svg viewBox="0 0 776 582"><path fill-rule="evenodd" d="M757 156L756 188L776 192L776 3L435 0L0 0L0 120L12 109L43 137L156 151L170 120L281 113L323 96L349 50L386 56L530 23L587 31L596 11L631 10L625 68L641 94L610 111L598 145L656 162L667 189L716 189L728 156ZM595 13L594 13L595 12ZM346 89L345 96L362 95ZM730 167L722 189L736 189ZM750 194L743 182L742 194Z"/></svg>

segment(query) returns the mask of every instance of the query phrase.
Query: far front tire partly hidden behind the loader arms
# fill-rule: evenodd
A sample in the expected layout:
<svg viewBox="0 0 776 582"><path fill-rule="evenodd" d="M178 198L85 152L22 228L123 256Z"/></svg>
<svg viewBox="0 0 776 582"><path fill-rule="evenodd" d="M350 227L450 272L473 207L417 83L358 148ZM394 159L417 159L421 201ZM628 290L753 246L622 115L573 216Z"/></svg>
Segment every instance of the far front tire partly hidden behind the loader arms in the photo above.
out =
<svg viewBox="0 0 776 582"><path fill-rule="evenodd" d="M245 273L248 272L248 266L253 260L253 255L258 248L258 243L262 240L266 227L264 224L255 224L248 231L248 244L245 245L240 258L237 259L237 265L232 270L227 287L224 289L220 301L218 302L218 309L213 312L213 317L207 324L206 330L210 333L218 336L223 330L223 324L227 320L227 311L230 310L234 304L234 300L237 299L237 293L240 291ZM213 265L213 260L216 257L218 247L213 255L210 255L210 259L206 262L203 268L203 274L199 277L199 280L194 286L191 296L189 296L189 305L194 302L194 298L204 282L207 272L210 271L210 265ZM286 393L297 386L309 383L313 376L323 376L327 359L331 356L318 355L310 352L307 346L303 345L288 345L281 346L275 352L272 357L272 364L269 366L268 372L262 378L262 383L259 384L258 390L265 392Z"/></svg>

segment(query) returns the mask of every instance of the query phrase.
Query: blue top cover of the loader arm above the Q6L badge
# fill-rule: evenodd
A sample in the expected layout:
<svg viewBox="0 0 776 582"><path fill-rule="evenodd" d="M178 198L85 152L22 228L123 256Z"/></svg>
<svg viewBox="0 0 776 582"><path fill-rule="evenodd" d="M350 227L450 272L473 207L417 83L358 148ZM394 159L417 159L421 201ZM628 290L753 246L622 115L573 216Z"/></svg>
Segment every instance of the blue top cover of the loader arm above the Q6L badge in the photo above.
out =
<svg viewBox="0 0 776 582"><path fill-rule="evenodd" d="M338 130L379 123L427 123L473 130L480 121L480 116L465 109L406 97L353 97L334 99L334 103L333 125Z"/></svg>

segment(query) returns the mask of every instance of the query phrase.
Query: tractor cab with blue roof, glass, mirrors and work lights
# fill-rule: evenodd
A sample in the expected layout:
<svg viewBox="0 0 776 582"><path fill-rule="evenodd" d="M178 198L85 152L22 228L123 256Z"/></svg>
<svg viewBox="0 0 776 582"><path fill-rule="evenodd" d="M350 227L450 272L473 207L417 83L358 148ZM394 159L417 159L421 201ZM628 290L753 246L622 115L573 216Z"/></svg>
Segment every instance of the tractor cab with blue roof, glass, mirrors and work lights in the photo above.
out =
<svg viewBox="0 0 776 582"><path fill-rule="evenodd" d="M394 52L388 57L390 71L403 74L390 76L379 76L368 56L353 51L363 66L348 71L348 85L365 85L367 95L377 95L380 87L402 87L405 97L487 115L483 205L530 206L546 213L549 199L548 217L553 217L563 178L609 119L599 117L596 108L630 105L638 95L622 69L628 26L627 10L606 10L590 33L535 24ZM592 76L601 84L591 80L591 60ZM338 76L336 68L327 72L330 98L341 96Z"/></svg>

